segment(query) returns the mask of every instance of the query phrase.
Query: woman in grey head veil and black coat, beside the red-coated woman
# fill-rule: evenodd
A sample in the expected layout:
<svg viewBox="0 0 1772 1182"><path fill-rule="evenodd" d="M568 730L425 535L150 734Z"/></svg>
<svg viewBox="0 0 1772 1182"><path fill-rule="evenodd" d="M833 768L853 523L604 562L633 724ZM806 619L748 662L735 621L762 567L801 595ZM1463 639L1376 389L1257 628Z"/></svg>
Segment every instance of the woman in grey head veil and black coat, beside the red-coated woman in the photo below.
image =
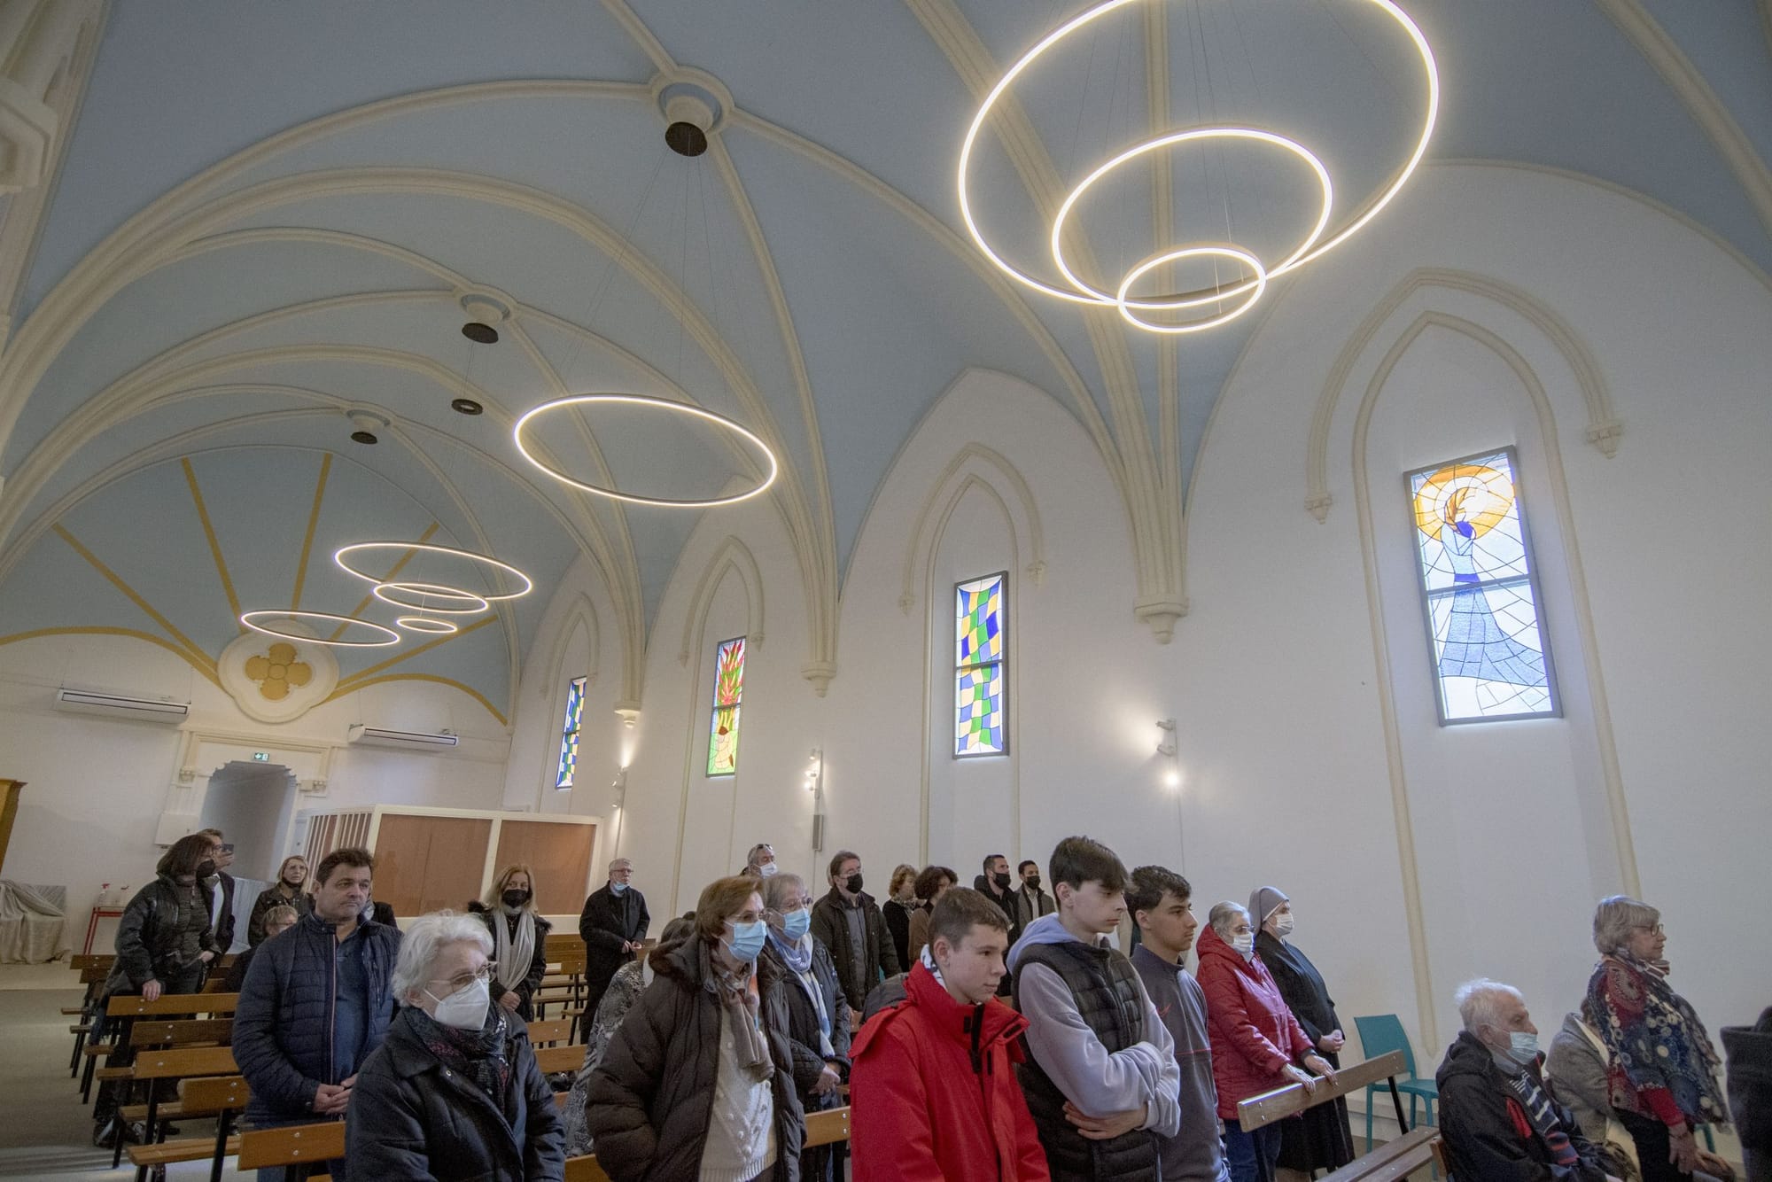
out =
<svg viewBox="0 0 1772 1182"><path fill-rule="evenodd" d="M1260 925L1255 950L1279 985L1292 1017L1299 1019L1317 1053L1331 1067L1341 1067L1341 1019L1329 987L1310 957L1286 939L1292 934L1292 900L1285 891L1263 886L1249 898L1249 918ZM1279 1122L1279 1164L1286 1170L1336 1170L1354 1157L1345 1099L1308 1108L1299 1120Z"/></svg>

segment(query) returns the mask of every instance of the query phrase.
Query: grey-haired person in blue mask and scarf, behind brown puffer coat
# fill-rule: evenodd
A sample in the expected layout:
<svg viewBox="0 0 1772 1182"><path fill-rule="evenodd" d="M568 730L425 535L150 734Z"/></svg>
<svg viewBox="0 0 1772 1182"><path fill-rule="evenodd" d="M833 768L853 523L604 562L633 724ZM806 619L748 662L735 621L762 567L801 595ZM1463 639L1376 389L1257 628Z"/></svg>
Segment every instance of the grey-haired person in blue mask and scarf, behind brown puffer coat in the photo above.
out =
<svg viewBox="0 0 1772 1182"><path fill-rule="evenodd" d="M849 1005L836 980L831 950L812 934L812 895L797 874L764 879L764 921L769 943L764 959L787 982L787 1037L794 1056L794 1086L808 1113L842 1108L840 1086L849 1079ZM829 1182L835 1154L820 1145L799 1157L801 1182Z"/></svg>

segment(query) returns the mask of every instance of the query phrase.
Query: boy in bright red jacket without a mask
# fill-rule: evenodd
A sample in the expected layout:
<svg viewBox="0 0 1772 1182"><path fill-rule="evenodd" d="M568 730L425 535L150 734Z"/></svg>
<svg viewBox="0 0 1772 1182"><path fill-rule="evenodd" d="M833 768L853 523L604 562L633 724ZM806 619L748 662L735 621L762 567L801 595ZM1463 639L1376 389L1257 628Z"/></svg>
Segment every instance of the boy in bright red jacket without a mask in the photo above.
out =
<svg viewBox="0 0 1772 1182"><path fill-rule="evenodd" d="M1028 1019L998 1001L1008 920L952 888L905 996L851 1047L856 1182L1047 1182L1045 1150L1012 1065Z"/></svg>

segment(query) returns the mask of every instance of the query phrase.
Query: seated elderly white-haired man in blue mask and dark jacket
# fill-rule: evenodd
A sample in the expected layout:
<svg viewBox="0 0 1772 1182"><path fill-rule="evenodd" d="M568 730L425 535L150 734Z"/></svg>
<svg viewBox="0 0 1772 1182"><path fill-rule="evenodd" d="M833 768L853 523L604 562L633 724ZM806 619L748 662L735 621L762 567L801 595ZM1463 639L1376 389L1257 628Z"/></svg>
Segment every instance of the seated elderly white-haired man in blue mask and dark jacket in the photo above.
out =
<svg viewBox="0 0 1772 1182"><path fill-rule="evenodd" d="M1457 1001L1464 1031L1435 1074L1451 1175L1481 1182L1618 1182L1575 1116L1545 1090L1538 1028L1520 991L1474 980L1458 987Z"/></svg>

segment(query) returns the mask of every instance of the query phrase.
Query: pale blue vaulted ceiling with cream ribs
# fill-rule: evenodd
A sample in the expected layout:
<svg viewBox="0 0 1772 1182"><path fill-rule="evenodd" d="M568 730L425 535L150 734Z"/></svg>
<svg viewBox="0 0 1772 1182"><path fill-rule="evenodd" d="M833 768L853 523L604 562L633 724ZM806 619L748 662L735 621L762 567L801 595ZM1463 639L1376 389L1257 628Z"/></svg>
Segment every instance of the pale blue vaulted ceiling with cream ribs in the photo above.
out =
<svg viewBox="0 0 1772 1182"><path fill-rule="evenodd" d="M774 448L767 496L808 590L812 661L829 659L870 500L966 367L1028 379L1092 434L1127 498L1141 604L1161 611L1180 597L1203 425L1267 308L1185 337L1127 328L1003 278L955 200L985 89L1081 7L112 5L0 354L0 640L172 629L213 656L243 608L356 611L363 585L331 569L337 546L429 537L537 579L493 617L496 638L402 666L503 711L576 558L599 569L634 656L700 516L571 491L512 447L512 420L542 400L627 390L696 402ZM1405 7L1444 87L1428 167L1584 174L1772 268L1765 4ZM661 106L684 94L718 112L698 158L663 136ZM1235 119L1311 144L1340 214L1409 154L1423 99L1409 43L1363 0L1146 0L1030 73L1012 115L1035 138L1015 140L1014 119L1010 151L987 135L973 198L994 241L1038 261L1037 211L1102 145ZM1310 222L1310 190L1237 186L1308 174L1239 151L1173 152L1079 204L1097 273L1201 237L1180 209L1214 168L1251 179L1226 181L1205 222L1281 248ZM1341 250L1382 252L1382 214ZM475 294L509 312L498 344L461 335ZM486 413L452 411L459 397ZM365 424L377 443L349 439ZM757 478L728 438L656 411L539 434L581 478L631 493ZM347 679L377 661L347 659Z"/></svg>

